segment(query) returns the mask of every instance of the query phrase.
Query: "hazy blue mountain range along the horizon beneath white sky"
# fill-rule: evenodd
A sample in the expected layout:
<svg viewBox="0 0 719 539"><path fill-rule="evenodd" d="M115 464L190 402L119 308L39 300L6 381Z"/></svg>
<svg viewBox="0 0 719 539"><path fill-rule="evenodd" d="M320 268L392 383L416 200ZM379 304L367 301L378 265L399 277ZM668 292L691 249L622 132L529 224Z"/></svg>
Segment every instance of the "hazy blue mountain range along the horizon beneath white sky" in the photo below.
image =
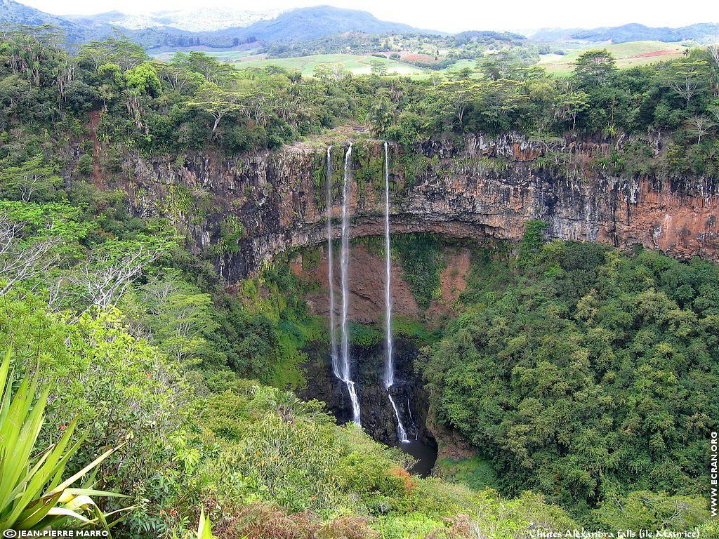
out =
<svg viewBox="0 0 719 539"><path fill-rule="evenodd" d="M333 6L279 10L178 9L149 14L109 11L96 15L52 15L14 0L0 0L0 24L40 26L52 24L65 32L68 42L104 39L119 30L148 49L204 45L237 47L246 42L301 42L331 34L442 34L398 22L377 19L367 11ZM462 32L477 34L478 32ZM479 32L486 33L486 32ZM459 35L462 35L459 34ZM522 36L516 34L516 38ZM700 43L719 41L719 24L692 24L680 28L653 28L643 24L595 29L541 29L529 36L538 41L628 42L657 40Z"/></svg>

